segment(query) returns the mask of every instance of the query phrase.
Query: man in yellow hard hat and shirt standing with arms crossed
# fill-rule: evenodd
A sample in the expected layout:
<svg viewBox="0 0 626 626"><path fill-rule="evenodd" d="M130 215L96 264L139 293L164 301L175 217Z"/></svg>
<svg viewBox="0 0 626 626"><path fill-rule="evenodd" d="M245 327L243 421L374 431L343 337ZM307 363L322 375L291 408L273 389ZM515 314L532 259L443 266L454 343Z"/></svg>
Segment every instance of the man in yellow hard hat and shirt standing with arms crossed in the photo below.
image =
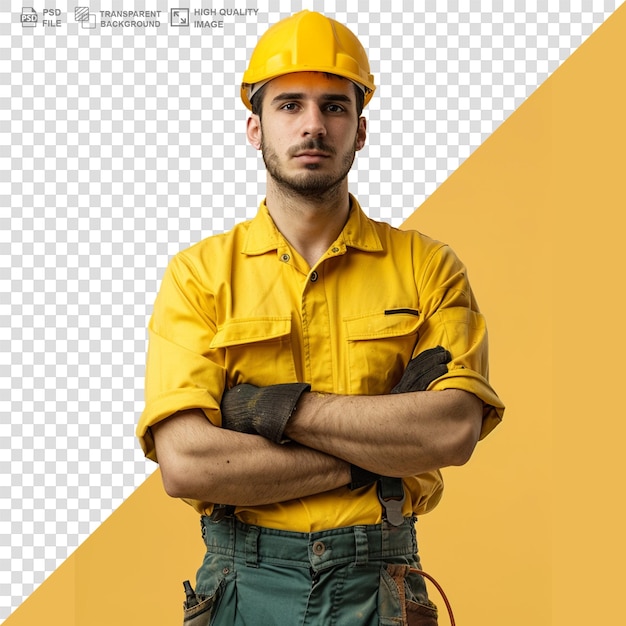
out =
<svg viewBox="0 0 626 626"><path fill-rule="evenodd" d="M138 435L201 515L190 626L436 624L415 517L503 405L463 265L348 191L374 89L338 22L270 28L242 84L267 196L163 278Z"/></svg>

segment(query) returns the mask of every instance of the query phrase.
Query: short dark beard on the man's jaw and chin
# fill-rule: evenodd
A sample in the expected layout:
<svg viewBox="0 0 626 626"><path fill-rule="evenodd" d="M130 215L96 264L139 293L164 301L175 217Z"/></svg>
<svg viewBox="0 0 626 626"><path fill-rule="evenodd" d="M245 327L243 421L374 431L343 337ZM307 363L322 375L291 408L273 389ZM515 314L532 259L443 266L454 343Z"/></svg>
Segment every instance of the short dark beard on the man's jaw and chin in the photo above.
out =
<svg viewBox="0 0 626 626"><path fill-rule="evenodd" d="M354 163L356 141L355 136L353 146L342 155L339 160L339 169L335 172L319 171L321 169L319 164L310 163L303 172L287 174L281 167L278 154L265 143L263 135L261 136L261 152L269 175L284 193L308 199L321 199L332 196L345 180ZM292 157L305 150L319 150L331 156L335 156L337 153L332 146L326 145L323 139L310 139L295 148L291 148L288 151L288 156Z"/></svg>

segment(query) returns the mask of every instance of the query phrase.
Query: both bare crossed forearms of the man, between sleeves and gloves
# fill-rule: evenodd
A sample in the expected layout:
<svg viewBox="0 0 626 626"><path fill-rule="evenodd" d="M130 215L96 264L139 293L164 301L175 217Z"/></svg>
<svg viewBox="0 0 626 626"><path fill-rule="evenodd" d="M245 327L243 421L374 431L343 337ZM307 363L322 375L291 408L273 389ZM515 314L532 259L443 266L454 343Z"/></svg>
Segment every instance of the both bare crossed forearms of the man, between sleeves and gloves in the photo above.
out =
<svg viewBox="0 0 626 626"><path fill-rule="evenodd" d="M238 506L321 493L350 482L350 465L412 476L462 465L480 435L482 401L461 390L382 396L306 393L291 443L214 426L200 410L152 427L167 493Z"/></svg>

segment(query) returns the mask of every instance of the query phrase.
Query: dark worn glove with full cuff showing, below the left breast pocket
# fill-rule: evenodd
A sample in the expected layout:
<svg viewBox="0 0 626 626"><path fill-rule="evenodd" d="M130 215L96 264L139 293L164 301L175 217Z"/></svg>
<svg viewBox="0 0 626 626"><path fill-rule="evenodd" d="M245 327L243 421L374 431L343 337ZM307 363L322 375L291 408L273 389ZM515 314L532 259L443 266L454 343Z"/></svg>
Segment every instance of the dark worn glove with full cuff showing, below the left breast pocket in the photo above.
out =
<svg viewBox="0 0 626 626"><path fill-rule="evenodd" d="M244 383L222 396L222 427L240 433L262 435L274 443L283 441L283 432L300 396L310 391L307 383L256 387Z"/></svg>

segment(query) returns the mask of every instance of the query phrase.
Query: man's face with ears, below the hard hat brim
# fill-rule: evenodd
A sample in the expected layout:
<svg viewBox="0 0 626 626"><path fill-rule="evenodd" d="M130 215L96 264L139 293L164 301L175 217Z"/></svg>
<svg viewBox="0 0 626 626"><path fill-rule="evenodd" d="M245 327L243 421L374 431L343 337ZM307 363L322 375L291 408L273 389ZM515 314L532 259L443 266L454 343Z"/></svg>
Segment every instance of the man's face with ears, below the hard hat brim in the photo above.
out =
<svg viewBox="0 0 626 626"><path fill-rule="evenodd" d="M354 85L318 72L287 74L263 94L262 121L248 121L250 143L262 150L274 182L297 195L317 197L345 180L365 144Z"/></svg>

